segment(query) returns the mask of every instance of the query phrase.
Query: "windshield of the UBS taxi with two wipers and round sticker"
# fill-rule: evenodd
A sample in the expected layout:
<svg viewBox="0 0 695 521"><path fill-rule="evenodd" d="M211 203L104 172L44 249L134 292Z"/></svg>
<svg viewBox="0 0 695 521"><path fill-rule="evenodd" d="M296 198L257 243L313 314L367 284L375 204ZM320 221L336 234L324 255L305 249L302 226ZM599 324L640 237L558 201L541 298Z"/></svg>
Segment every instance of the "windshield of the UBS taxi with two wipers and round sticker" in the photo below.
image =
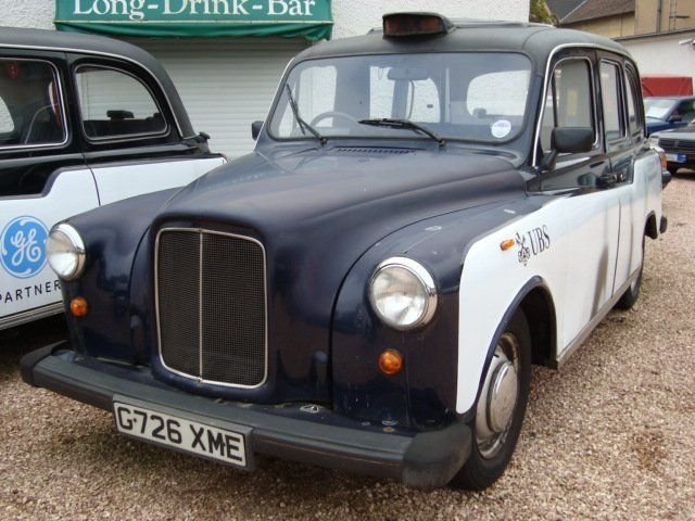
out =
<svg viewBox="0 0 695 521"><path fill-rule="evenodd" d="M523 128L523 54L376 54L300 62L270 117L276 139L505 142Z"/></svg>

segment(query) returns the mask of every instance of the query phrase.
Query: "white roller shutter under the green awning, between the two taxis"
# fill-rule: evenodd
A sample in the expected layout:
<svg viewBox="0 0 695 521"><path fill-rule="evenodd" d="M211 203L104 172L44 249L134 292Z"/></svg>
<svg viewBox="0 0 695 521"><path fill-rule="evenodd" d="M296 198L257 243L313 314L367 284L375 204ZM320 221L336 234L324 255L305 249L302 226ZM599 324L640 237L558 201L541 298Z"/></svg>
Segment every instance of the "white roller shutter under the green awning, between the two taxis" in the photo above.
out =
<svg viewBox="0 0 695 521"><path fill-rule="evenodd" d="M131 39L160 60L195 131L230 158L253 149L251 123L265 119L289 61L303 38Z"/></svg>

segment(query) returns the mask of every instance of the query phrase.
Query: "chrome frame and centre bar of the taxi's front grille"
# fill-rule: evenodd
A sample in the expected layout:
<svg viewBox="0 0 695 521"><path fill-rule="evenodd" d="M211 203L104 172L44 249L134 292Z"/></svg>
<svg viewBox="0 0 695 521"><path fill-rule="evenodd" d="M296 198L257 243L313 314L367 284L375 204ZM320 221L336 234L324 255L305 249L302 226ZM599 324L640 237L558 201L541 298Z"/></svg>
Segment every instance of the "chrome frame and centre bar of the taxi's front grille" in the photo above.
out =
<svg viewBox="0 0 695 521"><path fill-rule="evenodd" d="M160 319L160 274L159 274L159 259L160 259L160 239L162 237L163 233L166 233L168 231L178 231L178 232L189 232L189 233L198 233L200 237L200 241L199 241L199 257L198 257L198 262L199 262L199 267L201 266L200 263L202 263L202 258L203 258L203 240L202 237L204 233L207 234L212 234L212 236L223 236L223 237L231 237L235 239L242 239L245 241L250 241L253 242L255 244L257 244L261 247L261 252L263 253L263 307L264 307L264 312L265 312L265 331L263 331L263 342L264 342L264 360L263 360L263 380L255 384L255 385L243 385L243 384L239 384L239 383L227 383L227 382L218 382L215 380L205 380L204 378L201 377L194 377L191 374L188 374L186 372L181 372L178 371L176 369L172 369L170 367L168 367L165 363L164 363L164 357L162 355L162 325L161 325L161 319ZM202 270L200 270L200 276L202 279ZM198 313L199 313L199 354L200 354L200 358L199 358L199 372L201 372L202 374L202 316L203 316L203 312L202 312L202 283L201 280L199 279L199 306L198 306ZM178 374L179 377L186 378L188 380L192 380L199 383L206 383L206 384L211 384L211 385L219 385L219 386L224 386L224 387L231 387L231 389L247 389L247 390L252 390L252 389L258 389L263 385L265 385L265 383L268 381L268 281L267 281L267 257L266 257L266 253L265 253L265 247L263 246L263 243L252 237L248 237L248 236L240 236L238 233L228 233L228 232L223 232L223 231L216 231L216 230L208 230L205 228L180 228L180 227L174 227L174 228L162 228L160 231L157 231L156 234L156 239L154 242L154 310L155 310L155 316L156 316L156 336L157 336L157 345L156 345L156 350L157 350L157 355L160 357L160 363L162 364L162 367L164 367L167 371L174 373L174 374Z"/></svg>

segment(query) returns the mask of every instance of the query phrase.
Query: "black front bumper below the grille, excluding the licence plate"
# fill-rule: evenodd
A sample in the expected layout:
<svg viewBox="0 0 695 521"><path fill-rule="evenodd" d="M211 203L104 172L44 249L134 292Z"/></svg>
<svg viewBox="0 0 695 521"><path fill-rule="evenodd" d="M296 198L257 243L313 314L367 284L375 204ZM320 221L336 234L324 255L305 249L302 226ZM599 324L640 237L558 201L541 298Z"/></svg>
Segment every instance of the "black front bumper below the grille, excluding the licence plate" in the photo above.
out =
<svg viewBox="0 0 695 521"><path fill-rule="evenodd" d="M71 398L113 410L114 396L248 428L252 454L389 478L417 487L446 484L471 447L471 431L456 421L431 432L365 424L303 404L256 406L184 393L154 380L146 368L86 359L66 342L29 353L22 378Z"/></svg>

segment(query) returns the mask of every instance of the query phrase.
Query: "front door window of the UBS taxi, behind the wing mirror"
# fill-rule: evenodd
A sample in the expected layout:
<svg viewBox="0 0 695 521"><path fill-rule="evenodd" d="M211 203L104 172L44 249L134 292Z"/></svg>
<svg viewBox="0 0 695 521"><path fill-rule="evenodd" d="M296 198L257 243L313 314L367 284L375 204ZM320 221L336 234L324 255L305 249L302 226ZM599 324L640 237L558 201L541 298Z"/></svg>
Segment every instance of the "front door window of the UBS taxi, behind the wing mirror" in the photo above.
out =
<svg viewBox="0 0 695 521"><path fill-rule="evenodd" d="M584 59L559 62L551 77L541 123L543 153L551 152L551 135L557 127L591 127L596 135L592 102L591 64Z"/></svg>

